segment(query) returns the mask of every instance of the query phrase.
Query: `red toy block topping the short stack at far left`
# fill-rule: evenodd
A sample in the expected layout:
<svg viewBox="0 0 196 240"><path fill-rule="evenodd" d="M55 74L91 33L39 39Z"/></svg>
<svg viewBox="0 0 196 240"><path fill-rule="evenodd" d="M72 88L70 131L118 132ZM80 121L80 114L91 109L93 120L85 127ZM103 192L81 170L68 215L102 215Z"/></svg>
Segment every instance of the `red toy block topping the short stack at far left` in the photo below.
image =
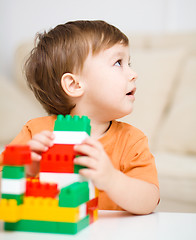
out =
<svg viewBox="0 0 196 240"><path fill-rule="evenodd" d="M31 151L29 146L12 145L5 148L3 164L21 166L31 163Z"/></svg>

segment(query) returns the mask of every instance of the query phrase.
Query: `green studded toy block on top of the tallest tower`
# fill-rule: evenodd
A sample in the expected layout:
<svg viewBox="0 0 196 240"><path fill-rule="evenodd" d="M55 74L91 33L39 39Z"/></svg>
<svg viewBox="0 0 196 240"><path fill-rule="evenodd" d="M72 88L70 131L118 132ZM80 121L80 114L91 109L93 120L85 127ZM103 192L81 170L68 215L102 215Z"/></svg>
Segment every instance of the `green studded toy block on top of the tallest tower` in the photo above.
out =
<svg viewBox="0 0 196 240"><path fill-rule="evenodd" d="M54 131L81 131L90 135L90 119L87 116L72 117L71 115L58 115L55 121Z"/></svg>

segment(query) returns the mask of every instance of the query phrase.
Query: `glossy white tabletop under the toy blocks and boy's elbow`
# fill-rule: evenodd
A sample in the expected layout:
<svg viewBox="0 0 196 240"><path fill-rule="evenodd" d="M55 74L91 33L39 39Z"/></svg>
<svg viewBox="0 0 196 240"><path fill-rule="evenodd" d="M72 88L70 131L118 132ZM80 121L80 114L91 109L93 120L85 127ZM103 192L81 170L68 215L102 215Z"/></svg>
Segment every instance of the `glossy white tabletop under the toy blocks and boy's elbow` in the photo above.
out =
<svg viewBox="0 0 196 240"><path fill-rule="evenodd" d="M99 220L76 235L5 232L0 240L196 240L196 214L153 213L132 216L121 211L99 211Z"/></svg>

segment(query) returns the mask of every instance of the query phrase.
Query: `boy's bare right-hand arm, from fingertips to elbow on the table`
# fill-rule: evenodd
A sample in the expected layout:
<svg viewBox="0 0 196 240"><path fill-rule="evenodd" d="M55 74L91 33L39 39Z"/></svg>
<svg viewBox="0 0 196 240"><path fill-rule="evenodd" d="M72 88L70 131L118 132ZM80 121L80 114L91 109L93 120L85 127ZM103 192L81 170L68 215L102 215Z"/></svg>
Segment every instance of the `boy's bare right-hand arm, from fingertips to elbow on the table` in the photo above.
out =
<svg viewBox="0 0 196 240"><path fill-rule="evenodd" d="M116 170L97 140L88 138L75 146L75 150L87 155L74 160L76 164L88 167L81 169L80 174L91 179L121 208L132 214L148 214L155 209L159 201L158 187Z"/></svg>

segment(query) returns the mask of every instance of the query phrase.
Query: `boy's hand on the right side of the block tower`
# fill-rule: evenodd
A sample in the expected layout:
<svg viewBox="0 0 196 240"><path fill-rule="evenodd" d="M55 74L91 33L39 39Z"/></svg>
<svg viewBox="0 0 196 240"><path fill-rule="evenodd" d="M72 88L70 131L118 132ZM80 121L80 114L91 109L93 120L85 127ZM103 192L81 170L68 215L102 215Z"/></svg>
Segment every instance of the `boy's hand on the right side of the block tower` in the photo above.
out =
<svg viewBox="0 0 196 240"><path fill-rule="evenodd" d="M89 137L82 144L75 145L74 150L85 155L74 159L75 164L87 167L81 169L80 174L91 179L99 190L107 191L112 184L111 179L116 170L102 144Z"/></svg>

